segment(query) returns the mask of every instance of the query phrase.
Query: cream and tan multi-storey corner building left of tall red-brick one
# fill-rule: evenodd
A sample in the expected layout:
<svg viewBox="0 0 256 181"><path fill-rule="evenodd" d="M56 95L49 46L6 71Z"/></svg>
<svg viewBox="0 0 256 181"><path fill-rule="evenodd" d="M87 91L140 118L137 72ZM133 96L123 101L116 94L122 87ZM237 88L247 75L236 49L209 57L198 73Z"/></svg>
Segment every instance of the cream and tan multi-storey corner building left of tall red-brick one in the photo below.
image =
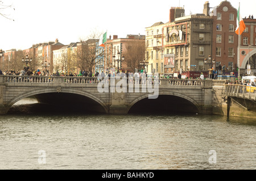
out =
<svg viewBox="0 0 256 181"><path fill-rule="evenodd" d="M148 73L208 70L204 59L212 54L212 17L204 14L175 17L172 22L158 22L146 28Z"/></svg>

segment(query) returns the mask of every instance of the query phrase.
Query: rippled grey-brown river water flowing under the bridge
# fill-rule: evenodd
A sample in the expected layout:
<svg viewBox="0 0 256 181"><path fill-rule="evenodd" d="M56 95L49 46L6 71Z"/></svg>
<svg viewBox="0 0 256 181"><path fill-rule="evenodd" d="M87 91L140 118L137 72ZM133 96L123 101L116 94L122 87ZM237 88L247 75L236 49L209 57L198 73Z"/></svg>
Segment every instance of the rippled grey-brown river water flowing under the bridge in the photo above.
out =
<svg viewBox="0 0 256 181"><path fill-rule="evenodd" d="M0 115L0 169L256 169L256 119L51 110Z"/></svg>

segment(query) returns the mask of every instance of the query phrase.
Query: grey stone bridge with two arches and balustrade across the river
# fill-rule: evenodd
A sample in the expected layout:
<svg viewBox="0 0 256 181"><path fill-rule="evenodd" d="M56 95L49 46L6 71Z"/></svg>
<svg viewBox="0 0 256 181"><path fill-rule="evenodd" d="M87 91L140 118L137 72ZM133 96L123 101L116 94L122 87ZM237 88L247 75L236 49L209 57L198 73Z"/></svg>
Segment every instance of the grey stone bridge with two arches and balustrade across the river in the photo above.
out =
<svg viewBox="0 0 256 181"><path fill-rule="evenodd" d="M126 81L126 78L105 78L105 81L99 81L97 77L0 75L0 113L7 113L13 104L31 96L43 103L57 101L64 104L66 100L73 100L82 105L89 102L89 107L94 107L99 112L128 113L135 104L139 106L139 102L143 100L147 100L148 105L153 104L152 95L156 95L156 90L155 100L160 100L162 105L183 102L179 106L190 105L193 112L212 113L213 88L224 84L223 81L212 79L147 79L143 82L143 79L129 78L129 83L122 84L123 80ZM102 82L108 84L102 86ZM126 91L113 89L113 85ZM150 86L151 91L148 89Z"/></svg>

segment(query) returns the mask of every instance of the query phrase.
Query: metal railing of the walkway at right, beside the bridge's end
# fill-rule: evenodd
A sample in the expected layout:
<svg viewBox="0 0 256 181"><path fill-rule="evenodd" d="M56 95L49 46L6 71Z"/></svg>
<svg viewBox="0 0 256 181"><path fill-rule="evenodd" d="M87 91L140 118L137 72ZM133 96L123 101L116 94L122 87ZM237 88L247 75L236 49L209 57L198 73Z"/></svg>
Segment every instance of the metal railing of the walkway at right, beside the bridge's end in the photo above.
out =
<svg viewBox="0 0 256 181"><path fill-rule="evenodd" d="M251 86L243 85L225 85L222 89L222 95L237 97L242 99L256 100L256 90Z"/></svg>

